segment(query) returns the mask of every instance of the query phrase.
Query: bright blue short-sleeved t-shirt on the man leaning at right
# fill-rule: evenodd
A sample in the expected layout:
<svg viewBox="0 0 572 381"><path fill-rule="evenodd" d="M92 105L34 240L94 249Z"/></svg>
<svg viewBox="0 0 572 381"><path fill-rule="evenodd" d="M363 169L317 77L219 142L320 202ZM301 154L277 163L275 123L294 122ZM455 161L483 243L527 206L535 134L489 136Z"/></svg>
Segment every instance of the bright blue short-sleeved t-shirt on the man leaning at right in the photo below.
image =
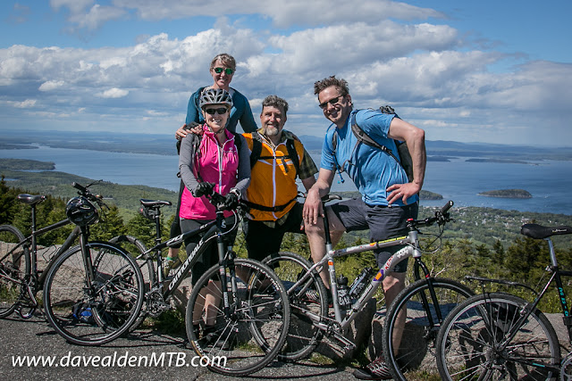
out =
<svg viewBox="0 0 572 381"><path fill-rule="evenodd" d="M399 162L388 153L366 144L357 144L357 137L351 131L351 116L356 114L357 125L366 131L381 145L388 147L399 159L397 146L393 139L387 137L394 114L385 114L375 110L357 110L349 114L343 128L338 128L337 149L334 157L332 147L333 131L337 128L332 124L326 131L322 148L320 167L325 170L337 170L336 159L342 170L348 173L354 181L357 190L365 203L370 205L388 205L386 189L393 184L407 184L408 176ZM408 204L418 201L417 195L408 198ZM403 206L401 200L392 205Z"/></svg>

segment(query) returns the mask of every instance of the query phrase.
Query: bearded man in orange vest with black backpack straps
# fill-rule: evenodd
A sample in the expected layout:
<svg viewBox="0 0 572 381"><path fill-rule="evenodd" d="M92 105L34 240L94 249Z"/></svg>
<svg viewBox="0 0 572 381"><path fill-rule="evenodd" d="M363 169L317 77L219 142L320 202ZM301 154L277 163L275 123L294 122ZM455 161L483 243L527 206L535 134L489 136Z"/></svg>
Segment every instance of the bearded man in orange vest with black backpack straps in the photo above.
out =
<svg viewBox="0 0 572 381"><path fill-rule="evenodd" d="M298 203L298 185L308 190L318 172L304 145L286 123L288 103L269 95L262 103L262 128L243 134L250 150L250 186L243 202L248 206L248 219L243 227L248 257L261 261L278 253L284 233L301 233L303 205Z"/></svg>

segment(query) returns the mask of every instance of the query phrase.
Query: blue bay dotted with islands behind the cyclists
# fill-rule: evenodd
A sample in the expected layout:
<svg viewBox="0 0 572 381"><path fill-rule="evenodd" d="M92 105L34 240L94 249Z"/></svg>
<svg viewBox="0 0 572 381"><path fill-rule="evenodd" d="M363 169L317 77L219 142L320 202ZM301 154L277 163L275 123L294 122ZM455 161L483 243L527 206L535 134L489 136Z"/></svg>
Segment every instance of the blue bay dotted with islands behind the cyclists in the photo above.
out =
<svg viewBox="0 0 572 381"><path fill-rule="evenodd" d="M300 139L319 165L323 138L300 135ZM424 206L453 200L456 206L572 215L572 147L444 141L427 141L426 146ZM46 162L33 170L61 171L122 185L172 191L179 187L174 139L160 135L3 131L0 171L18 170L22 165L8 159ZM355 192L345 174L344 179L341 182L336 175L332 191Z"/></svg>

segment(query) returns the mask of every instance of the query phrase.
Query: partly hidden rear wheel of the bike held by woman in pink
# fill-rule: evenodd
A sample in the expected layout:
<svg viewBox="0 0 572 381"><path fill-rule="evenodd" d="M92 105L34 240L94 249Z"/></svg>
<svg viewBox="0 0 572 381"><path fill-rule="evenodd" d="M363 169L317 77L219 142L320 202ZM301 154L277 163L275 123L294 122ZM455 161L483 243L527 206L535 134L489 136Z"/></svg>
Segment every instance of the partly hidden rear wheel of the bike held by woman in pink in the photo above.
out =
<svg viewBox="0 0 572 381"><path fill-rule="evenodd" d="M147 293L156 285L155 266L153 265L153 261L137 259L140 254L147 253L147 246L139 238L128 235L114 236L109 240L109 242L119 245L122 249L130 253L131 256L134 257L135 261L137 261L139 269L141 269L141 274L143 275L143 282L145 283L145 298L143 300L143 306L141 307L138 319L135 320L135 323L130 327L130 332L133 332L143 323L143 321L145 321L145 319L147 319Z"/></svg>

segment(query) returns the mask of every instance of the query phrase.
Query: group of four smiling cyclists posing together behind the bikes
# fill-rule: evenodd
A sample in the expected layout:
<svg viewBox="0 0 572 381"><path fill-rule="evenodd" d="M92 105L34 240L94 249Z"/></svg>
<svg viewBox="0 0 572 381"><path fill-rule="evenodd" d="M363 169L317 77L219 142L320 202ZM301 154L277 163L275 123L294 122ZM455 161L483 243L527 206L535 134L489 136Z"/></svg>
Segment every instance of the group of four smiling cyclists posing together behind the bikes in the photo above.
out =
<svg viewBox="0 0 572 381"><path fill-rule="evenodd" d="M243 232L248 257L261 261L277 253L286 232L306 234L314 261L325 255L324 222L328 213L332 242L344 231L369 229L372 241L407 235L406 221L416 218L418 193L425 177L425 132L395 114L374 110L354 110L348 83L335 76L315 82L318 105L332 122L324 137L319 170L299 138L284 129L289 105L277 95L262 102L260 128L248 99L232 88L236 62L229 54L218 54L210 64L211 86L200 87L190 96L187 119L175 137L179 140L180 201L171 235L177 236L215 218L214 206L202 188L214 183L214 191L225 197L225 205L246 205ZM240 122L244 134L236 132ZM396 140L404 141L413 161L409 181L398 160L373 146L359 144L352 125L388 147L399 158ZM321 197L327 195L336 171L346 172L361 198L335 203L323 210ZM315 174L318 174L317 179ZM297 200L297 178L307 191L305 203ZM234 237L227 239L233 240ZM198 244L185 243L188 253ZM399 250L376 251L379 266ZM167 270L180 261L176 248L170 249ZM206 253L192 271L191 282L213 266L216 253ZM383 281L388 305L405 287L407 261ZM320 274L330 285L327 271ZM208 290L205 290L208 294ZM311 297L311 295L308 295ZM217 303L214 294L211 302ZM206 314L206 327L214 325ZM404 321L402 321L404 324ZM399 340L399 338L397 338ZM361 379L391 378L383 353L354 376Z"/></svg>

